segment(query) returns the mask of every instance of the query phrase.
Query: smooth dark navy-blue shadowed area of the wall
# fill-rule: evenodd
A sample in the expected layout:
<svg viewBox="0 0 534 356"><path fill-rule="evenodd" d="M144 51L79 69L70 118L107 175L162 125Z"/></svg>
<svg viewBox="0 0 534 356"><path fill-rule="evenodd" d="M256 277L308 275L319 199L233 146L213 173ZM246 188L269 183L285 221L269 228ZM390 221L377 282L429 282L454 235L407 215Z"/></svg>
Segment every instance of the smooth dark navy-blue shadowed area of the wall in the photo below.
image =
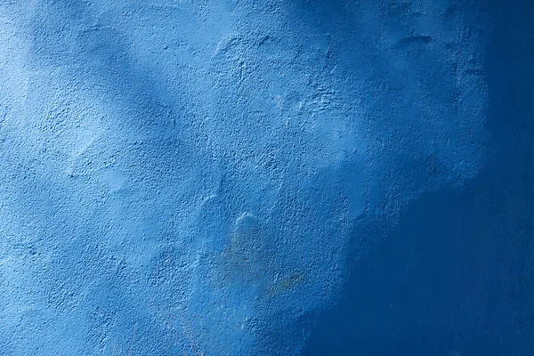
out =
<svg viewBox="0 0 534 356"><path fill-rule="evenodd" d="M304 355L534 354L534 3L489 7L490 162L412 203Z"/></svg>

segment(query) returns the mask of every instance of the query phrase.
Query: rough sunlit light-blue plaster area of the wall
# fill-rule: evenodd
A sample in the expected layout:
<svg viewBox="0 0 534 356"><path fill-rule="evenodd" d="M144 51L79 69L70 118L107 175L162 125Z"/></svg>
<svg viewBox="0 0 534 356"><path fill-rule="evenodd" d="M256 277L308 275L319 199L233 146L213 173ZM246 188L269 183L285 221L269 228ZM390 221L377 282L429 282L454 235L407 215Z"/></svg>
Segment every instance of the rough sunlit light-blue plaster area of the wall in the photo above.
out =
<svg viewBox="0 0 534 356"><path fill-rule="evenodd" d="M347 263L481 170L487 16L0 2L0 354L300 353Z"/></svg>

